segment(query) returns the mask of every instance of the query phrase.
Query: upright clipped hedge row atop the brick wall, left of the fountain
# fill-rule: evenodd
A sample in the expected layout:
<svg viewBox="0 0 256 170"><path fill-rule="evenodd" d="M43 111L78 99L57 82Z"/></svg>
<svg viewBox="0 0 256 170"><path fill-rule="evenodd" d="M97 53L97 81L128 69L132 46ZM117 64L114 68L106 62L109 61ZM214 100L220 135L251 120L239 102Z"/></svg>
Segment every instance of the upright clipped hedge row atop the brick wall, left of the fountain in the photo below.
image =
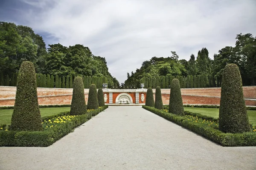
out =
<svg viewBox="0 0 256 170"><path fill-rule="evenodd" d="M17 85L17 76L18 74L12 74L9 76L3 76L0 74L0 85L2 86L16 86ZM49 74L36 74L36 81L38 88L73 88L73 79L75 77L68 75L66 77L61 77L58 75L49 75ZM95 84L97 88L102 88L103 83L108 84L107 77L96 77L96 76L84 76L83 83L84 88L89 88L91 84Z"/></svg>

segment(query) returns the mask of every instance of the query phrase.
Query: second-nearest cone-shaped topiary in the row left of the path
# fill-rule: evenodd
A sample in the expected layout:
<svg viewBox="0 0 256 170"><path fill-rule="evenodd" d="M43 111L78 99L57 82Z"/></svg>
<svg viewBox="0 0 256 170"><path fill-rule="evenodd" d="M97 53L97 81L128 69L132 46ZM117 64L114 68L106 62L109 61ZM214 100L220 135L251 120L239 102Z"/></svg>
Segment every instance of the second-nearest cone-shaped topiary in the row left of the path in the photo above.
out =
<svg viewBox="0 0 256 170"><path fill-rule="evenodd" d="M70 115L81 115L86 113L84 99L84 83L81 77L76 77L73 84L73 96L70 108Z"/></svg>

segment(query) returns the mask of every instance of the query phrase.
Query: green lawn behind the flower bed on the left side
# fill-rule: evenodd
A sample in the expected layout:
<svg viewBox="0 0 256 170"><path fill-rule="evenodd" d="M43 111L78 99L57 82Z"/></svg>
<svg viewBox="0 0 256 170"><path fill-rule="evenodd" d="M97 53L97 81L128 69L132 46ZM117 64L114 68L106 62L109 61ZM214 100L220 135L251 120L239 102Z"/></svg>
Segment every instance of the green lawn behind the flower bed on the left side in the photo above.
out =
<svg viewBox="0 0 256 170"><path fill-rule="evenodd" d="M60 112L70 111L70 107L67 108L40 108L41 117L55 115ZM0 110L0 125L11 124L13 109Z"/></svg>

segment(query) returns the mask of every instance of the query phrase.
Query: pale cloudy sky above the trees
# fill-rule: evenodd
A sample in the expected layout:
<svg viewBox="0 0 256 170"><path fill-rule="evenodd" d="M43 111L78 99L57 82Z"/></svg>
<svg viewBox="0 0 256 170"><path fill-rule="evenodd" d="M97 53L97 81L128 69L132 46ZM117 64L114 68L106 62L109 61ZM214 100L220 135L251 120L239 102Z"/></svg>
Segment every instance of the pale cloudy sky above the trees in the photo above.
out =
<svg viewBox="0 0 256 170"><path fill-rule="evenodd" d="M83 44L124 82L151 57L210 57L256 36L256 0L0 0L0 20L26 25L46 44Z"/></svg>

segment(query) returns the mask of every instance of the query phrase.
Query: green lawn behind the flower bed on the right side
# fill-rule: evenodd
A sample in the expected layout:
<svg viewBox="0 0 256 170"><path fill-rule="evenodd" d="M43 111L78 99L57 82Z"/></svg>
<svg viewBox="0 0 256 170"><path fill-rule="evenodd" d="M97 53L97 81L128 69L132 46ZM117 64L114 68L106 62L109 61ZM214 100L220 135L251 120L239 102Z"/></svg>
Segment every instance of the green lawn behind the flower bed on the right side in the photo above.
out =
<svg viewBox="0 0 256 170"><path fill-rule="evenodd" d="M206 116L211 116L218 118L219 109L217 108L184 108L185 111L195 112L195 113L201 113ZM250 123L253 125L256 125L256 111L248 111L247 114L249 117Z"/></svg>

